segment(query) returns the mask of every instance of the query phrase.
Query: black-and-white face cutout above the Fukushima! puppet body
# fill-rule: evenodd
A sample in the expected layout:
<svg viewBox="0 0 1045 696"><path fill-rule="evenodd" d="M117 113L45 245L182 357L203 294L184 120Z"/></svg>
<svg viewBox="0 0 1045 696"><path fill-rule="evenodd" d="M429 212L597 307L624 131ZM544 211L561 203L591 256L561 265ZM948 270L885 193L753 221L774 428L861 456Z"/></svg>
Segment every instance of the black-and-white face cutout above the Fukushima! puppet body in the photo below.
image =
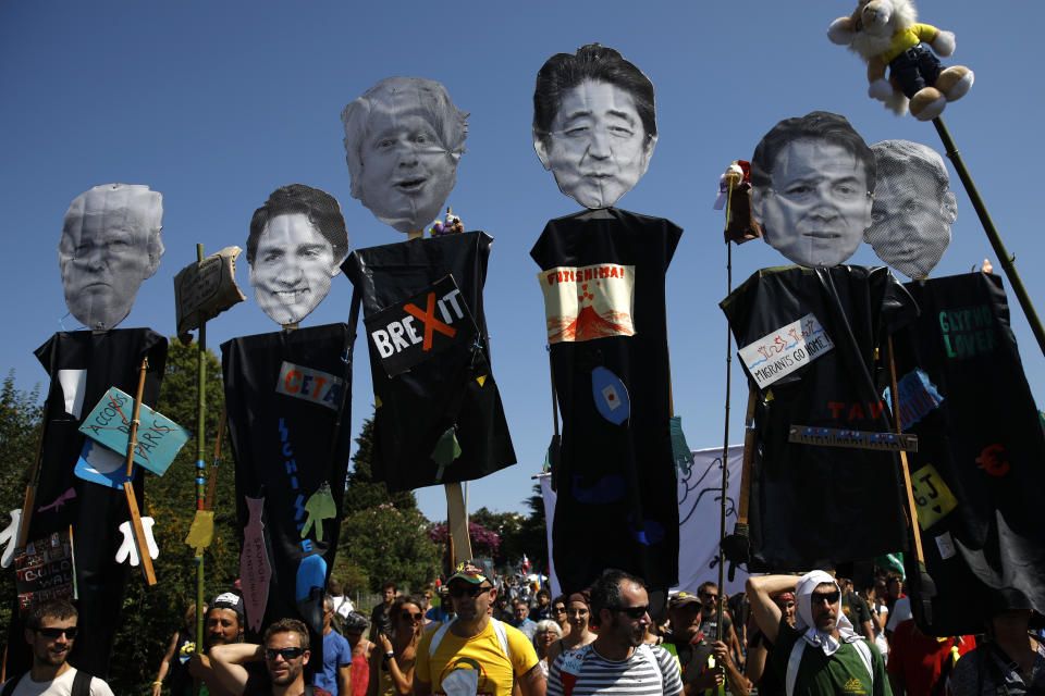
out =
<svg viewBox="0 0 1045 696"><path fill-rule="evenodd" d="M631 190L656 145L653 85L599 44L558 53L538 73L533 149L560 190L589 209Z"/></svg>

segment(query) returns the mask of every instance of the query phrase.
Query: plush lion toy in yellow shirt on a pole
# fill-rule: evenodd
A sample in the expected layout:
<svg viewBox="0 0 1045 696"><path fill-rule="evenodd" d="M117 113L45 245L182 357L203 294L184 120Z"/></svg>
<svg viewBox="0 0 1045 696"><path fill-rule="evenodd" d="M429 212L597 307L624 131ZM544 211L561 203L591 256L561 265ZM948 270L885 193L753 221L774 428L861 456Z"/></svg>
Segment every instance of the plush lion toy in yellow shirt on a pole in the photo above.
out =
<svg viewBox="0 0 1045 696"><path fill-rule="evenodd" d="M948 101L960 99L972 87L971 70L964 65L944 69L933 55L933 51L944 58L955 52L954 33L920 24L910 0L860 0L850 16L831 23L827 37L849 46L868 62L868 95L899 115L910 100L911 115L931 121Z"/></svg>

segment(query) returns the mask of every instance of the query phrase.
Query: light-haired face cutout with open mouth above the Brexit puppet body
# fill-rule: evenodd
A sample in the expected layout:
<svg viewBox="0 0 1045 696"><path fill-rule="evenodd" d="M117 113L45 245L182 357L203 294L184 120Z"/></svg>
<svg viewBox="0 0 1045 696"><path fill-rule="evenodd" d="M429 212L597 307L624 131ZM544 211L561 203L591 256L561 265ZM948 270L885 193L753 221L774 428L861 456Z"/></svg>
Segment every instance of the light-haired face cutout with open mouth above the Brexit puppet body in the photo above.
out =
<svg viewBox="0 0 1045 696"><path fill-rule="evenodd" d="M353 197L399 232L423 229L457 183L465 115L439 83L389 77L374 85L342 113Z"/></svg>

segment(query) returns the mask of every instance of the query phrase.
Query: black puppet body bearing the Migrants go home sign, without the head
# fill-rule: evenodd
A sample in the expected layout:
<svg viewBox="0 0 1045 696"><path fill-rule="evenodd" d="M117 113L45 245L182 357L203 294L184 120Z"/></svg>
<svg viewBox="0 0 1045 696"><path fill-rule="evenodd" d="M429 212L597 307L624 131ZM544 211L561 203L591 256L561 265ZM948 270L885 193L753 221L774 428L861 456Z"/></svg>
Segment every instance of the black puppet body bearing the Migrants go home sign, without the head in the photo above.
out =
<svg viewBox="0 0 1045 696"><path fill-rule="evenodd" d="M894 432L875 356L917 314L910 295L884 266L782 266L757 272L721 307L749 383L776 378L758 393L749 572L835 568L907 548L896 452L789 435L792 426Z"/></svg>

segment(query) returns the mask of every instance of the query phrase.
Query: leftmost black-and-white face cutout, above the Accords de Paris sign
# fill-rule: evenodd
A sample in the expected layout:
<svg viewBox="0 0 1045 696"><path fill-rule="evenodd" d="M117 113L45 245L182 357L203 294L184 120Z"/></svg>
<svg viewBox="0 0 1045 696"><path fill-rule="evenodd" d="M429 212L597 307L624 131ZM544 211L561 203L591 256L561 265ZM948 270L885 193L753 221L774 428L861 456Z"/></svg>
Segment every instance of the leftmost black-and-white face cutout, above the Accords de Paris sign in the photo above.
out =
<svg viewBox="0 0 1045 696"><path fill-rule="evenodd" d="M69 206L58 245L65 304L87 328L108 331L131 312L160 265L163 197L148 186L103 184Z"/></svg>

